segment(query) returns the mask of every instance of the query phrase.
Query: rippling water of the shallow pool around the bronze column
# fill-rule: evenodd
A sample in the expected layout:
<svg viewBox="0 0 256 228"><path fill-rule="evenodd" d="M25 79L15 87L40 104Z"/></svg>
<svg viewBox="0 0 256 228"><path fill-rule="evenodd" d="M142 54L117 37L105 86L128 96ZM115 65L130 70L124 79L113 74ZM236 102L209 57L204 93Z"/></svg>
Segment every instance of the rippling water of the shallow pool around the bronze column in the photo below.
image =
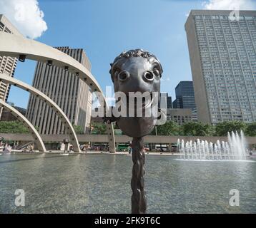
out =
<svg viewBox="0 0 256 228"><path fill-rule="evenodd" d="M256 213L256 162L146 155L145 168L148 213ZM131 176L129 155L1 155L0 213L130 213Z"/></svg>

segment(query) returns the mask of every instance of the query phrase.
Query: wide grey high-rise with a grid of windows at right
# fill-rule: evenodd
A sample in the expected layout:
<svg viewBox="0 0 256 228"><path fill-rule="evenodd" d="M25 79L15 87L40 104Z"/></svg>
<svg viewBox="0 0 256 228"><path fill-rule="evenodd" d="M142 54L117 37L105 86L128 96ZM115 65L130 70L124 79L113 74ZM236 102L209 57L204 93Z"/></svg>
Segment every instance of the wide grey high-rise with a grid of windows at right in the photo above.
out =
<svg viewBox="0 0 256 228"><path fill-rule="evenodd" d="M192 10L185 29L198 119L256 121L256 11Z"/></svg>

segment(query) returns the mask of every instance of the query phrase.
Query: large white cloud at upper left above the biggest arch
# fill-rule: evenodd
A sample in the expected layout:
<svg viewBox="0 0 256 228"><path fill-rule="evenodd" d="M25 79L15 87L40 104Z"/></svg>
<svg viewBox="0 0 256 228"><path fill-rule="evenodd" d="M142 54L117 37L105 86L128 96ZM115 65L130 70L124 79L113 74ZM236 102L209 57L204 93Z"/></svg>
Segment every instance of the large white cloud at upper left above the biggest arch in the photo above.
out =
<svg viewBox="0 0 256 228"><path fill-rule="evenodd" d="M0 0L0 14L29 38L38 38L47 30L44 12L37 0Z"/></svg>

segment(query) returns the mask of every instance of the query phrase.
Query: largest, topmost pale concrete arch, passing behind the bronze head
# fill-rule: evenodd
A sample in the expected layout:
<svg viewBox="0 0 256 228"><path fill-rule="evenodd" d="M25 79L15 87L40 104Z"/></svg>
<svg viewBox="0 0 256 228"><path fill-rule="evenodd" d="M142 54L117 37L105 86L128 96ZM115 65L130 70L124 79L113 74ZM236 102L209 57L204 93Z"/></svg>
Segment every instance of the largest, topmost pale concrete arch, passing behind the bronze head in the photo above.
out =
<svg viewBox="0 0 256 228"><path fill-rule="evenodd" d="M34 41L14 34L0 32L0 55L19 58L20 55L26 55L34 61L47 63L52 61L52 64L81 78L87 85L92 88L92 91L98 91L104 94L97 83L97 80L92 76L92 73L87 70L79 61L76 61L71 56L62 51L47 46L44 43ZM107 100L104 98L104 108L108 110ZM114 128L112 123L107 125L107 135L109 140L109 152L115 152L114 143Z"/></svg>

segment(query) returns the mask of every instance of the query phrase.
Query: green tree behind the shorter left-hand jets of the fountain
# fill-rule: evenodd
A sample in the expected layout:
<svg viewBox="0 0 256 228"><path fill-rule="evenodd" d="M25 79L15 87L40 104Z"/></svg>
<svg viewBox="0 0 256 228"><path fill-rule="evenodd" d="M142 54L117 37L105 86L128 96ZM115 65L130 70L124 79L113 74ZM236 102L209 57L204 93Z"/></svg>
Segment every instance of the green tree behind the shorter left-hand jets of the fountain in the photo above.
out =
<svg viewBox="0 0 256 228"><path fill-rule="evenodd" d="M200 122L187 122L182 125L182 133L186 136L210 136L215 128L210 124Z"/></svg>

